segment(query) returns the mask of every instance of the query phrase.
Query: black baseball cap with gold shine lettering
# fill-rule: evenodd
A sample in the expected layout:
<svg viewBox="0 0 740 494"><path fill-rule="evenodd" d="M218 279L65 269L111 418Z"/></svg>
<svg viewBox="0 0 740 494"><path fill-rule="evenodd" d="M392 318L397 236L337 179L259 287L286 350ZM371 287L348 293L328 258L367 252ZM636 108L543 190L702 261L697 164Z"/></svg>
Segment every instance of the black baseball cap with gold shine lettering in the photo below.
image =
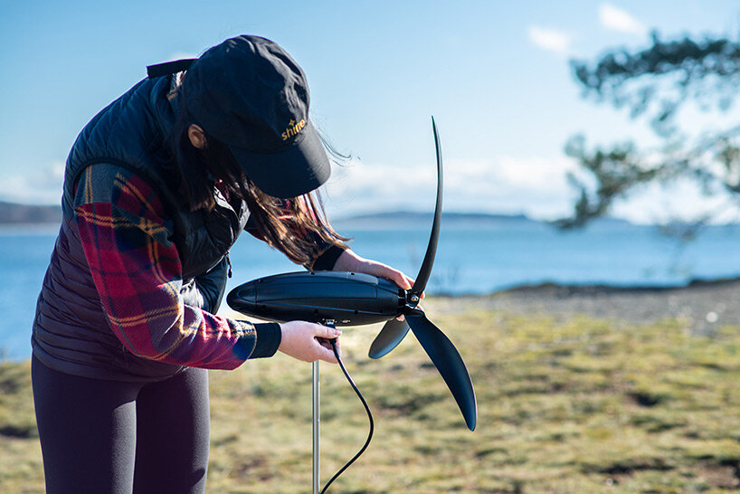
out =
<svg viewBox="0 0 740 494"><path fill-rule="evenodd" d="M242 35L208 49L185 72L185 108L225 143L262 192L280 198L324 184L331 167L308 119L306 75L277 43Z"/></svg>

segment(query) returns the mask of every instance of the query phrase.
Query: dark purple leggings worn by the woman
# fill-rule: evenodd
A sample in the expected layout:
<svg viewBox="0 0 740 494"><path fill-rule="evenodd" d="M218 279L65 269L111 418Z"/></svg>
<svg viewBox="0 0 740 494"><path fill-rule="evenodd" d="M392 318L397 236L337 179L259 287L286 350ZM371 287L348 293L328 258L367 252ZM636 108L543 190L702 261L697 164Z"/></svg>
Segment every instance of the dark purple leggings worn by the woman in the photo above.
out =
<svg viewBox="0 0 740 494"><path fill-rule="evenodd" d="M207 371L140 384L31 368L48 494L204 492Z"/></svg>

